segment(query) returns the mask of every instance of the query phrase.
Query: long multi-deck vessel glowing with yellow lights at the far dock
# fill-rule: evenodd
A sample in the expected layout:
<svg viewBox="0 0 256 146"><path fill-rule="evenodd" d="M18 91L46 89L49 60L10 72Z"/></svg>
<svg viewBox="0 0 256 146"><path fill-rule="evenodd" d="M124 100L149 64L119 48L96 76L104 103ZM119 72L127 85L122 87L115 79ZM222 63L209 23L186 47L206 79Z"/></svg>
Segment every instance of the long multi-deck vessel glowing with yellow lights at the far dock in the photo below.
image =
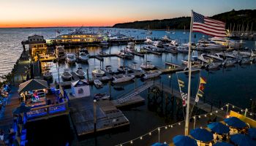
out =
<svg viewBox="0 0 256 146"><path fill-rule="evenodd" d="M61 34L58 37L46 39L48 45L65 45L65 44L99 44L102 37L98 34L86 34L82 31L75 31L69 34Z"/></svg>

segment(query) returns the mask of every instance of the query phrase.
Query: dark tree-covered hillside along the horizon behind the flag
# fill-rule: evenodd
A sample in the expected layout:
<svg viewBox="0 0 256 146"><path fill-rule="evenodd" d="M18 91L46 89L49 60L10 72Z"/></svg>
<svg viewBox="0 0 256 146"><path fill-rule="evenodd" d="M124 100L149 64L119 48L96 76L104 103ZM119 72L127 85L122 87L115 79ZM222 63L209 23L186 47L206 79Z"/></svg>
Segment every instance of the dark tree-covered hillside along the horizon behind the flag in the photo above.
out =
<svg viewBox="0 0 256 146"><path fill-rule="evenodd" d="M230 23L233 25L244 24L244 29L246 29L247 24L249 25L249 30L253 23L253 30L256 30L256 9L243 9L243 10L232 10L230 12L224 12L222 14L214 15L211 18L222 20L226 23L226 27L230 27ZM171 18L163 20L143 20L135 21L130 23L118 23L113 26L113 28L137 28L137 29L166 29L167 26L170 29L189 29L190 17L181 18ZM236 30L236 28L235 28Z"/></svg>

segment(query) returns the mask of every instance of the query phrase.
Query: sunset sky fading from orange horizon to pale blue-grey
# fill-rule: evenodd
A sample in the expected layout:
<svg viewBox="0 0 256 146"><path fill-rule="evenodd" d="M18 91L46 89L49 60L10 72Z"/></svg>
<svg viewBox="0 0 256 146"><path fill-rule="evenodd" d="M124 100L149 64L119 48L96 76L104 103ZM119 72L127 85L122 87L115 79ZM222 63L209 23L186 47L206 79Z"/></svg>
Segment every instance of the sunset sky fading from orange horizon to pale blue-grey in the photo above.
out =
<svg viewBox="0 0 256 146"><path fill-rule="evenodd" d="M135 20L256 9L256 0L0 0L0 28L113 26Z"/></svg>

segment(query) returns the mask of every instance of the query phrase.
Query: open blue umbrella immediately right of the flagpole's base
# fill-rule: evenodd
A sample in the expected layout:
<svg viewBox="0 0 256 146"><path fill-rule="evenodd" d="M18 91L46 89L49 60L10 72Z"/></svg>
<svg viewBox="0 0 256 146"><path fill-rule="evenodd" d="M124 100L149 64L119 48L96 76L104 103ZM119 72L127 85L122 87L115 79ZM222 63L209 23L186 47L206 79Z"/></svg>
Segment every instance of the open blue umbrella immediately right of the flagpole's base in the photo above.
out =
<svg viewBox="0 0 256 146"><path fill-rule="evenodd" d="M190 135L203 142L209 142L214 139L213 134L211 134L211 132L207 131L205 128L195 128L190 131Z"/></svg>

